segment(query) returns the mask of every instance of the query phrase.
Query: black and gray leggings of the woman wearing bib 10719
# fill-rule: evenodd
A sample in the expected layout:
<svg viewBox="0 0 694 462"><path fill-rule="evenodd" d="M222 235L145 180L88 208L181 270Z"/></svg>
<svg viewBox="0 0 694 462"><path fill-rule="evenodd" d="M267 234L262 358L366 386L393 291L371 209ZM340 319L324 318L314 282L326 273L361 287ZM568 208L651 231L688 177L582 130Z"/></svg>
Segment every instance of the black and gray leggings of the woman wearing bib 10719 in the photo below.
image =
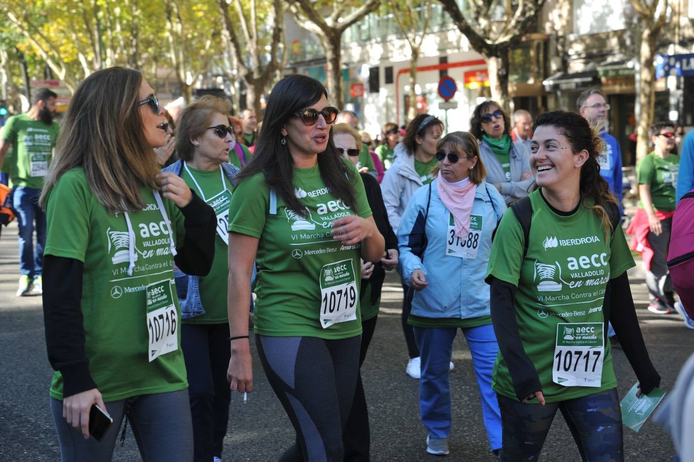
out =
<svg viewBox="0 0 694 462"><path fill-rule="evenodd" d="M268 381L296 430L280 461L342 461L342 431L354 399L361 336L256 336Z"/></svg>

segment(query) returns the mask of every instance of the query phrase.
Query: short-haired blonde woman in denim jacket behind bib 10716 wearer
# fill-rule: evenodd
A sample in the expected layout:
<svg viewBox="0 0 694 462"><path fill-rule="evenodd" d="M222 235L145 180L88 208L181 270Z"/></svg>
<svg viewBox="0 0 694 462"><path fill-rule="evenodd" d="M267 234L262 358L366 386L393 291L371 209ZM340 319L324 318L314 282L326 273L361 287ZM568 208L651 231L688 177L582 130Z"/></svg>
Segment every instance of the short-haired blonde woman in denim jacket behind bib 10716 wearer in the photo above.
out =
<svg viewBox="0 0 694 462"><path fill-rule="evenodd" d="M227 125L230 110L229 101L211 95L187 105L178 117L176 156L180 160L164 169L183 178L217 216L210 273L198 277L174 272L183 318L180 340L188 371L194 462L221 457L229 420L227 221L232 181L239 173L237 166L228 163L229 146L235 143L232 128Z"/></svg>

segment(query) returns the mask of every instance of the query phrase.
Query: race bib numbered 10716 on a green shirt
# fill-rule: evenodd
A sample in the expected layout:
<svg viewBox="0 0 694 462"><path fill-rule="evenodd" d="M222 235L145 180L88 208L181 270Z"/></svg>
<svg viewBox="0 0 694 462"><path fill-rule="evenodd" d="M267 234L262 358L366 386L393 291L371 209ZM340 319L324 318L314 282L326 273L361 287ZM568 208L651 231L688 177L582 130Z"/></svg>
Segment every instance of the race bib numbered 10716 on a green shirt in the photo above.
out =
<svg viewBox="0 0 694 462"><path fill-rule="evenodd" d="M178 350L178 313L174 305L171 286L167 279L147 286L147 330L149 348L147 357L154 361L162 354Z"/></svg>

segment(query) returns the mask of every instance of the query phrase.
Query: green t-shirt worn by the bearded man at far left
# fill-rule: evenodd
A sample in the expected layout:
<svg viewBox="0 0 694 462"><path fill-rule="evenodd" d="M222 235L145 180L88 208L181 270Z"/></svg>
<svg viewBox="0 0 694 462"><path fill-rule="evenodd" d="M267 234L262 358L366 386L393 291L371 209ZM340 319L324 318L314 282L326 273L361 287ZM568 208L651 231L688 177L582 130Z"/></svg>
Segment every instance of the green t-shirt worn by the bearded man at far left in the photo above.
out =
<svg viewBox="0 0 694 462"><path fill-rule="evenodd" d="M14 148L10 164L12 186L43 188L59 131L58 122L46 125L26 114L12 116L7 120L0 138L8 140Z"/></svg>

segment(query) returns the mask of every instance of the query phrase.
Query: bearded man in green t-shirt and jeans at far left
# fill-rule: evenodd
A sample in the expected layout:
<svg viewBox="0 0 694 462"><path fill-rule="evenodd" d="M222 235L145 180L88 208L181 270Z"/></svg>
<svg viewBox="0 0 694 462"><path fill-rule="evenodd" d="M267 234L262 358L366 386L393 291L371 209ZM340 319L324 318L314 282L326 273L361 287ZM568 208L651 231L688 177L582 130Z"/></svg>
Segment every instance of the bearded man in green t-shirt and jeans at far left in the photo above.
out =
<svg viewBox="0 0 694 462"><path fill-rule="evenodd" d="M57 98L51 90L39 89L29 111L10 117L0 132L0 165L10 146L14 151L10 165L11 200L19 224L19 271L22 273L17 296L42 293L46 214L38 200L60 130L58 123L53 121Z"/></svg>

